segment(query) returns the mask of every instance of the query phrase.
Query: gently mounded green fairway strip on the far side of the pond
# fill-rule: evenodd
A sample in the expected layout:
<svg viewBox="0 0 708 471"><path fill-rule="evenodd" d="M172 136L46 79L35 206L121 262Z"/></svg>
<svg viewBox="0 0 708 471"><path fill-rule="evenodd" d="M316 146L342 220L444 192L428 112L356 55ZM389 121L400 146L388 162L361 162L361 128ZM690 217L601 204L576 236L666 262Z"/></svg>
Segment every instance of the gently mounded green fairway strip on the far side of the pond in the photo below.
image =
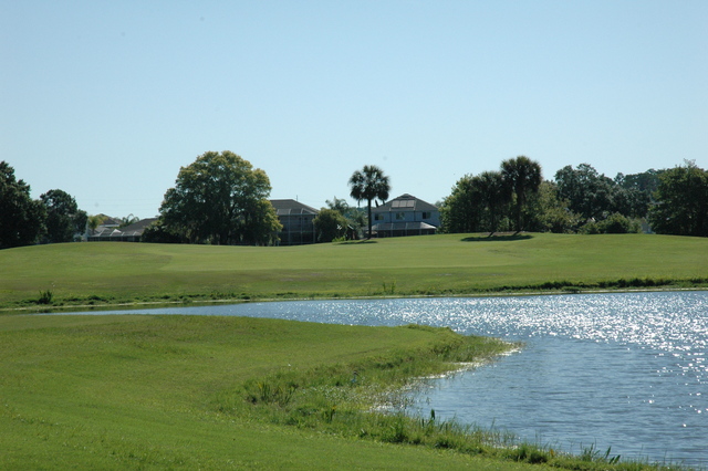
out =
<svg viewBox="0 0 708 471"><path fill-rule="evenodd" d="M708 239L434 236L253 248L71 243L0 251L0 308L708 285Z"/></svg>

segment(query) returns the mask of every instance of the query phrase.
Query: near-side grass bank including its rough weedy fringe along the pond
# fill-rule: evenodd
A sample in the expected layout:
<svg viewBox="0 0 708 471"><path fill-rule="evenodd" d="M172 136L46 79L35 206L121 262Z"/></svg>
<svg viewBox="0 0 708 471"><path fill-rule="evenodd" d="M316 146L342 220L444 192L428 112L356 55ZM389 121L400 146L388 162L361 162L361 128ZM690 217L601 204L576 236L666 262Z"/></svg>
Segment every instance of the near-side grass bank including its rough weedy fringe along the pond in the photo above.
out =
<svg viewBox="0 0 708 471"><path fill-rule="evenodd" d="M23 315L0 317L0 345L1 469L648 468L372 414L508 348L444 328Z"/></svg>

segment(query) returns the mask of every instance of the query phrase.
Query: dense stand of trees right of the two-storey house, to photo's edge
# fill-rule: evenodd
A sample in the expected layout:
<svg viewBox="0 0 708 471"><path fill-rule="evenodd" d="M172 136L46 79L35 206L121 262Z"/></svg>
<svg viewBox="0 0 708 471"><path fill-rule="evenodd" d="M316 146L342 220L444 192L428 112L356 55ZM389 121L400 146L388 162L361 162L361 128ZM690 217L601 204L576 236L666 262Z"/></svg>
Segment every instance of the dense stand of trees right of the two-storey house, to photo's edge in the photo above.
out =
<svg viewBox="0 0 708 471"><path fill-rule="evenodd" d="M565 166L552 180L520 156L500 170L466 175L440 203L446 232L654 232L708 237L708 171L694 161L673 169L618 174Z"/></svg>

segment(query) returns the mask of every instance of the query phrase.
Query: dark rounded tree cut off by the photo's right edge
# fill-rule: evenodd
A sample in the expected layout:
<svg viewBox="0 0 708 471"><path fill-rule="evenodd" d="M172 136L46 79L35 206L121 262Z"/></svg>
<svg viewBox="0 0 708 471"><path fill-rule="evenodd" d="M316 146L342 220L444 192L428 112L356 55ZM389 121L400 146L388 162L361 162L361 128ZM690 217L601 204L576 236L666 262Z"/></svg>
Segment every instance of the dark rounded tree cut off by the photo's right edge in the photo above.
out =
<svg viewBox="0 0 708 471"><path fill-rule="evenodd" d="M652 229L657 233L708 237L708 171L686 163L659 175L649 211Z"/></svg>

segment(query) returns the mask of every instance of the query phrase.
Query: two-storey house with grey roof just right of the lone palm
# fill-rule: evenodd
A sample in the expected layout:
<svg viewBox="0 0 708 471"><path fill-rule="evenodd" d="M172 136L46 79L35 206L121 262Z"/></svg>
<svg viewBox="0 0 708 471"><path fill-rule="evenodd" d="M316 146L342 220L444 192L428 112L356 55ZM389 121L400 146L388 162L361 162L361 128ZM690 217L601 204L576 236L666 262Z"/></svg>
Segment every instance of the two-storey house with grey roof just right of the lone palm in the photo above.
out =
<svg viewBox="0 0 708 471"><path fill-rule="evenodd" d="M434 205L405 193L372 208L374 237L434 234L440 227L440 211Z"/></svg>

